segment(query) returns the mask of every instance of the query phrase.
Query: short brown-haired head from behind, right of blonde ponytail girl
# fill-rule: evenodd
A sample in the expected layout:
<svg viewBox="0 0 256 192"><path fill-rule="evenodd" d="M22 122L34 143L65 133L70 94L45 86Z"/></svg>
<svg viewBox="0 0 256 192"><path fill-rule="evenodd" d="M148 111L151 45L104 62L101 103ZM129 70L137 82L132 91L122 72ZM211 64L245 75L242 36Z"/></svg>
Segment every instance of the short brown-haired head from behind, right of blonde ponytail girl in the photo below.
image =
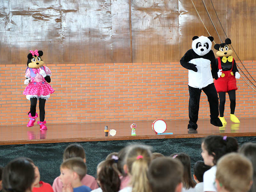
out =
<svg viewBox="0 0 256 192"><path fill-rule="evenodd" d="M159 157L148 170L151 191L180 192L182 190L183 165L171 157Z"/></svg>

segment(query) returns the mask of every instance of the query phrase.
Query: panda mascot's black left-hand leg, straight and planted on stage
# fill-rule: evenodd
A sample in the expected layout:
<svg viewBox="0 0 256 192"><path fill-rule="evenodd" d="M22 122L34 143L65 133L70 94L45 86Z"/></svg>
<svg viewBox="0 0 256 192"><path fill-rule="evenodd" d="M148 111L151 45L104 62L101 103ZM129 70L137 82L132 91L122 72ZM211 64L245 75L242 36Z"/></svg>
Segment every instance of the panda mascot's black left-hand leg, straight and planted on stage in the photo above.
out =
<svg viewBox="0 0 256 192"><path fill-rule="evenodd" d="M188 130L197 129L198 111L199 111L199 101L202 90L194 87L188 86L189 91L189 104L188 104L188 115L189 124Z"/></svg>

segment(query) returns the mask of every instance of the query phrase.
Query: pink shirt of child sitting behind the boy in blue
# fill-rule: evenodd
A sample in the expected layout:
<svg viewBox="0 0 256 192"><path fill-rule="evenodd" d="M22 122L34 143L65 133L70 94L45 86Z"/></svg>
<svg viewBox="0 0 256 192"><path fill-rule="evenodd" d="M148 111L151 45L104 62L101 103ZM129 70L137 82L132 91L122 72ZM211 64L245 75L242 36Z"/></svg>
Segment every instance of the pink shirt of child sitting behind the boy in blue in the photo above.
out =
<svg viewBox="0 0 256 192"><path fill-rule="evenodd" d="M91 175L86 174L81 182L83 185L88 186L92 190L99 188L97 181ZM63 184L60 181L60 177L55 178L52 184L52 188L54 192L62 192Z"/></svg>

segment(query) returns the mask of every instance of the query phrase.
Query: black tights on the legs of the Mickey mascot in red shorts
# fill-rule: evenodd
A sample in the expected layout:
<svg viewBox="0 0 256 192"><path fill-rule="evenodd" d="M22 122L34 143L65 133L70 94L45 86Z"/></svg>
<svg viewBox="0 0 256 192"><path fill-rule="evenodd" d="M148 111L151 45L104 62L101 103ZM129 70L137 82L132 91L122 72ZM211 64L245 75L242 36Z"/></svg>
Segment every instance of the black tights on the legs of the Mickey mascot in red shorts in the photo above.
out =
<svg viewBox="0 0 256 192"><path fill-rule="evenodd" d="M230 100L230 113L235 114L236 108L236 90L228 91L228 96ZM226 92L219 92L220 98L220 117L224 116L225 102L226 102Z"/></svg>

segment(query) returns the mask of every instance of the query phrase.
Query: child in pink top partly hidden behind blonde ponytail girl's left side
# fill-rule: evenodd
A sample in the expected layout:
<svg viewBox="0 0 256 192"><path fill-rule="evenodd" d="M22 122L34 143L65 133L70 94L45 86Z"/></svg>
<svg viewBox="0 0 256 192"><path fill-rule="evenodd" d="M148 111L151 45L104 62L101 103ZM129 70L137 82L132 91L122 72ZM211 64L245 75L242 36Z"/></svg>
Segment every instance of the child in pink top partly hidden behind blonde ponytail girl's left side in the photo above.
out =
<svg viewBox="0 0 256 192"><path fill-rule="evenodd" d="M130 176L127 174L127 172L124 171L124 164L125 164L125 156L129 151L129 147L127 146L125 148L122 148L119 152L118 152L118 160L117 160L117 168L118 171L120 172L120 180L121 180L121 184L120 184L120 190L125 188L125 187L130 187L130 181L131 178Z"/></svg>

